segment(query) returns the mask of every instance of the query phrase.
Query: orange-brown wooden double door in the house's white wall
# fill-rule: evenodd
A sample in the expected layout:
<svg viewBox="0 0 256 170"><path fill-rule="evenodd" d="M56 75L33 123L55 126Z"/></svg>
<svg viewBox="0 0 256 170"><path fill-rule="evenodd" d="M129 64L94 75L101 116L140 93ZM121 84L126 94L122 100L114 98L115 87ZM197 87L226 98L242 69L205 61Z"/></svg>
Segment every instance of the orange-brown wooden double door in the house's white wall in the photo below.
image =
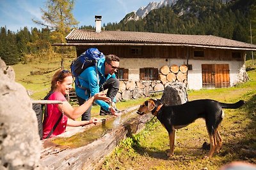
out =
<svg viewBox="0 0 256 170"><path fill-rule="evenodd" d="M202 64L204 89L230 87L228 64Z"/></svg>

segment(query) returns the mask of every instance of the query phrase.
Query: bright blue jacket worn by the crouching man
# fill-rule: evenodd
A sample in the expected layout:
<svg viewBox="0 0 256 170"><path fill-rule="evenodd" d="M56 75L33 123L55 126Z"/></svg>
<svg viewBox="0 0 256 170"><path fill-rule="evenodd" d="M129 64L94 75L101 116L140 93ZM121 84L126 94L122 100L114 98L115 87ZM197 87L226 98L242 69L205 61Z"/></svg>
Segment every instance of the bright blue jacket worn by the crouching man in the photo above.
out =
<svg viewBox="0 0 256 170"><path fill-rule="evenodd" d="M81 87L78 87L77 85L75 85L77 96L81 97L84 100L87 100L90 96L94 96L95 94L99 93L100 87L109 78L116 78L115 74L112 74L112 75L108 74L105 77L104 62L105 62L105 58L99 59L97 62L97 68L95 66L90 66L84 69L84 71L80 74L80 76L78 76L79 85ZM97 80L97 73L99 74L99 84ZM90 92L88 90L90 90ZM104 101L97 100L95 101L95 103L99 104L102 108L104 108L104 110L108 110L109 108L109 104Z"/></svg>

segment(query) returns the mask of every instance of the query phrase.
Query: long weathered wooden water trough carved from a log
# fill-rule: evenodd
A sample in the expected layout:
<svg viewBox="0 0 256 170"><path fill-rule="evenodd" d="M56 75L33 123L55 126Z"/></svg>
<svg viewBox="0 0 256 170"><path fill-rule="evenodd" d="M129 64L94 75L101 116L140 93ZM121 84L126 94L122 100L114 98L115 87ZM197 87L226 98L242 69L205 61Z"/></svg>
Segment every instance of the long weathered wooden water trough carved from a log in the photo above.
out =
<svg viewBox="0 0 256 170"><path fill-rule="evenodd" d="M77 135L77 138L79 138L84 133L89 133L92 127L95 127L93 124L76 127L58 137L45 139L42 141L43 148L40 163L49 169L100 169L106 155L109 155L122 139L140 132L145 127L145 123L152 118L151 114L136 115L135 111L138 110L138 107L134 106L122 111L122 119L125 120L123 117L125 115L129 117L129 114L133 115L133 117L127 118L127 121L125 120L125 122L114 126L112 129L108 129L100 138L85 145L66 145L65 141L72 136ZM117 118L109 116L101 124L97 124L97 127L103 127L111 120L115 122ZM63 143L58 144L55 142L56 140Z"/></svg>

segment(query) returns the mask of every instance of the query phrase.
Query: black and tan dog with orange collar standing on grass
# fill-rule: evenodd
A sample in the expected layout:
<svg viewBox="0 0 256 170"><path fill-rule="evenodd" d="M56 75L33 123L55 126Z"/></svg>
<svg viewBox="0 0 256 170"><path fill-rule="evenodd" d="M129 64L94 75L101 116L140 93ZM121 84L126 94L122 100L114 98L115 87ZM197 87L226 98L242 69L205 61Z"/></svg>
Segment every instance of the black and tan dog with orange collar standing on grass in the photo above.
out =
<svg viewBox="0 0 256 170"><path fill-rule="evenodd" d="M197 118L204 118L207 132L210 138L210 151L205 156L212 157L214 151L219 152L222 139L218 128L224 118L222 108L236 109L244 104L244 101L238 101L234 104L220 103L211 99L201 99L189 101L188 103L166 106L161 104L159 100L148 99L137 111L139 115L152 113L157 117L161 124L168 131L170 139L170 152L168 157L173 155L175 145L175 129L186 127L195 122Z"/></svg>

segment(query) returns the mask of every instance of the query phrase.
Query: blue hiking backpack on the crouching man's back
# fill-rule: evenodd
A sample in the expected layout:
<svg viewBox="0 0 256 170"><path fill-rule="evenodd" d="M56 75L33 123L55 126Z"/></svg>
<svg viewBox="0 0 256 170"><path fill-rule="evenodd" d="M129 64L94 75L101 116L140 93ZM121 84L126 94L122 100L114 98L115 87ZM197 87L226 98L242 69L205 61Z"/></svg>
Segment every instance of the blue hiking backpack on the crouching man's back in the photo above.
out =
<svg viewBox="0 0 256 170"><path fill-rule="evenodd" d="M84 53L79 55L70 66L71 73L75 78L75 83L78 87L79 85L78 76L84 71L84 69L90 66L97 66L97 61L102 59L105 55L100 52L97 48L88 48ZM96 69L97 71L97 69Z"/></svg>

